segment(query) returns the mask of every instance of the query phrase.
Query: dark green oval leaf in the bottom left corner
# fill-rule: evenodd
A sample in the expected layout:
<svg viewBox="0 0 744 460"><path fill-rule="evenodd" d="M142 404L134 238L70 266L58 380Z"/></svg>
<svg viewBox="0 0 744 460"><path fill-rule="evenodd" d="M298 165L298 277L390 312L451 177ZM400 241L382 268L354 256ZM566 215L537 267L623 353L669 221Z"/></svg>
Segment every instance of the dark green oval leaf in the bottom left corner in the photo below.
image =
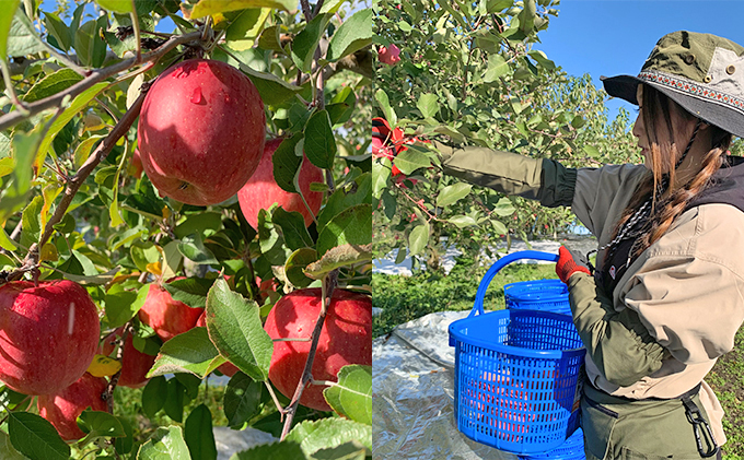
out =
<svg viewBox="0 0 744 460"><path fill-rule="evenodd" d="M19 452L31 460L68 460L70 446L46 420L28 412L8 415L10 441Z"/></svg>

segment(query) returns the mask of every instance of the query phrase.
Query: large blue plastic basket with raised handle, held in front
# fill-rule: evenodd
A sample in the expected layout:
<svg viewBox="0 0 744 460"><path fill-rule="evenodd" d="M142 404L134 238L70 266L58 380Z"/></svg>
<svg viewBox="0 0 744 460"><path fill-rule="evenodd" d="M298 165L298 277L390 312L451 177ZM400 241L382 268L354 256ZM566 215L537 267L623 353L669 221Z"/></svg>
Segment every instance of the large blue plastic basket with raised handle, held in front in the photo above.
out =
<svg viewBox="0 0 744 460"><path fill-rule="evenodd" d="M484 314L493 275L518 259L557 256L521 251L499 259L480 282L470 315L450 325L454 415L457 429L475 441L513 453L543 453L578 428L585 350L570 316L532 309Z"/></svg>

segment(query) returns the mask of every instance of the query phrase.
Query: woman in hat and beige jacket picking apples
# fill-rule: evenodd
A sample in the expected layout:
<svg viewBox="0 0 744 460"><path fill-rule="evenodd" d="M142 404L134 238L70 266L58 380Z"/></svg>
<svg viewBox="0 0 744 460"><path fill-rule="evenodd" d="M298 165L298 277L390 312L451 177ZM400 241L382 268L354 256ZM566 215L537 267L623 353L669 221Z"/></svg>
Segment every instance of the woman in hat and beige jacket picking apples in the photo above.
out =
<svg viewBox="0 0 744 460"><path fill-rule="evenodd" d="M597 237L596 271L560 249L586 346L588 459L697 459L725 443L702 378L744 320L744 48L707 34L662 37L638 76L603 79L639 106L643 165L566 168L438 144L444 172L547 207L571 205Z"/></svg>

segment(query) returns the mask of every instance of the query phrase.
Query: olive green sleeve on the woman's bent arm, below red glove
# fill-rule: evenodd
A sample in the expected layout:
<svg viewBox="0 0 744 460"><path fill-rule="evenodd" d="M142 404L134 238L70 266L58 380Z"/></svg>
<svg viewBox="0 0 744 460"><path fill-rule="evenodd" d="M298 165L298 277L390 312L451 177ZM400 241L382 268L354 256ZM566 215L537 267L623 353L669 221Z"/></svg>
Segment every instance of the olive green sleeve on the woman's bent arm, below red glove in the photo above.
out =
<svg viewBox="0 0 744 460"><path fill-rule="evenodd" d="M628 387L659 370L671 356L630 308L616 311L594 278L574 273L568 280L573 323L592 362L607 381Z"/></svg>

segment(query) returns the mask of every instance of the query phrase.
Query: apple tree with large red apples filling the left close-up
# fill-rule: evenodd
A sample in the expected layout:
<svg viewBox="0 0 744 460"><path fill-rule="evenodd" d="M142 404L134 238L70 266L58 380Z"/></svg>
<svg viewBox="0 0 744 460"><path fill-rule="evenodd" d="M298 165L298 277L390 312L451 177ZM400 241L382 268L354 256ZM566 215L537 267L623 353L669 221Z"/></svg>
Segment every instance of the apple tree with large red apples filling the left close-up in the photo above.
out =
<svg viewBox="0 0 744 460"><path fill-rule="evenodd" d="M369 458L370 5L2 7L0 458Z"/></svg>

